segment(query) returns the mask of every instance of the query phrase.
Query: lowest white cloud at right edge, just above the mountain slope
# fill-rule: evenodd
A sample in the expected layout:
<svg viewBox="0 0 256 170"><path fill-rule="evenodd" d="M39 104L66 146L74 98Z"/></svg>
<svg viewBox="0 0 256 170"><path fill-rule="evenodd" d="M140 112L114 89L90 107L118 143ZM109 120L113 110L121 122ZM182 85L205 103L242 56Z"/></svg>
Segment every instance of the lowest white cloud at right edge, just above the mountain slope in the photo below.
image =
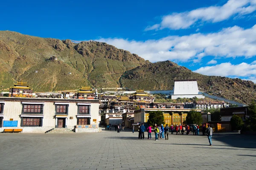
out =
<svg viewBox="0 0 256 170"><path fill-rule="evenodd" d="M230 62L225 62L219 65L201 67L194 72L208 76L256 77L256 65L245 62L232 65Z"/></svg>

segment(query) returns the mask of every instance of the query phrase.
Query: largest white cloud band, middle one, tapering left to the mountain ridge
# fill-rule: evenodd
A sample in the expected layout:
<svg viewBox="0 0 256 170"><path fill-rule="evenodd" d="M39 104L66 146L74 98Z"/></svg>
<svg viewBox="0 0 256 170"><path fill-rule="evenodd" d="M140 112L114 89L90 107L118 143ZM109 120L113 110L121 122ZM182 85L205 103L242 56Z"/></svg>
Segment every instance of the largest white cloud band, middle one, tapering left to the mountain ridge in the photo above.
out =
<svg viewBox="0 0 256 170"><path fill-rule="evenodd" d="M210 34L191 34L189 36L169 36L159 40L125 40L122 38L101 38L96 41L107 42L117 48L138 54L151 62L194 60L200 62L205 56L214 57L254 57L256 56L256 25L243 29L238 26L224 28Z"/></svg>

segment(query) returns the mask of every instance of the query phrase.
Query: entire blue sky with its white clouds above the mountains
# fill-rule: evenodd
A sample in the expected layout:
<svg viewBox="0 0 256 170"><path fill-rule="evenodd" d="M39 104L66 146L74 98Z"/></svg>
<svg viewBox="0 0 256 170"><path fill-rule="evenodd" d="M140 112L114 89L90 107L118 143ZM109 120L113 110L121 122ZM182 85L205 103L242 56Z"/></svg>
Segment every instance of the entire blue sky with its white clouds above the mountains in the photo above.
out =
<svg viewBox="0 0 256 170"><path fill-rule="evenodd" d="M256 82L256 0L13 0L0 14L0 30L98 40L151 62Z"/></svg>

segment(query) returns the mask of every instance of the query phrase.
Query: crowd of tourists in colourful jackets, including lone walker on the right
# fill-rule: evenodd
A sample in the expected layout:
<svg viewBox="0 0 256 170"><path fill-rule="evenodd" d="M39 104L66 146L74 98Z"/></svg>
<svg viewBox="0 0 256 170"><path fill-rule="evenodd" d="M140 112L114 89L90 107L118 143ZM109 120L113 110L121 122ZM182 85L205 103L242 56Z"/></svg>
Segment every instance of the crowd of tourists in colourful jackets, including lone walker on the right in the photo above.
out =
<svg viewBox="0 0 256 170"><path fill-rule="evenodd" d="M132 127L133 129L133 133L134 133L134 126ZM169 131L171 132L171 134L173 134L174 129L176 130L176 135L183 135L184 131L186 130L186 134L188 135L190 132L190 126L189 125L176 125L176 127L174 128L173 125L171 125L171 127L168 126L168 124L166 124L166 127L163 127L163 124L158 125L155 124L154 127L151 127L151 125L149 125L147 128L145 128L144 123L141 123L141 125L139 126L139 136L138 139L145 139L145 131L148 132L148 139L152 139L151 137L151 133L152 130L154 130L154 134L155 134L155 140L159 140L159 139L165 139L165 140L169 140ZM199 135L199 126L194 124L192 125L192 131L193 131L193 135ZM208 136L208 140L209 140L209 145L212 146L212 127L208 127L206 128L205 125L202 126L202 132L203 135L207 135Z"/></svg>

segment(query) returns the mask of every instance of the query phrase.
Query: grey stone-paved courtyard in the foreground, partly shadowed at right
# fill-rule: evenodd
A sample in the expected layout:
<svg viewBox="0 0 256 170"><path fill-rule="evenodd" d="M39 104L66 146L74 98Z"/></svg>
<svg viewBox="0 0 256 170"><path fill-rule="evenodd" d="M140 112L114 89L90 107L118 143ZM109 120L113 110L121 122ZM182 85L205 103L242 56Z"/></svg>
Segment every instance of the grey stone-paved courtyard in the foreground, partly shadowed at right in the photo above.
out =
<svg viewBox="0 0 256 170"><path fill-rule="evenodd" d="M154 135L154 134L153 134ZM0 133L1 170L253 170L256 136L170 135L139 140L138 133ZM153 137L153 136L152 136Z"/></svg>

